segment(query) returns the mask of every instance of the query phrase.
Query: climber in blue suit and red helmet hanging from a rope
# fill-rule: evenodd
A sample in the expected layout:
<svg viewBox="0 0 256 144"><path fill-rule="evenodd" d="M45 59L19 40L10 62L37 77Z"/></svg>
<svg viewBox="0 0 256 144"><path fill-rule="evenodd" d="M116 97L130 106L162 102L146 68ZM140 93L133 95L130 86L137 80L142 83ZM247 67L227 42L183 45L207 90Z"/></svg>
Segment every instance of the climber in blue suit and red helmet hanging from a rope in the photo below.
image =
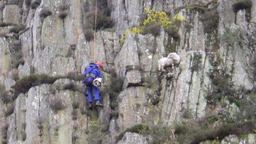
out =
<svg viewBox="0 0 256 144"><path fill-rule="evenodd" d="M88 102L89 102L89 108L90 109L92 108L91 103L93 101L92 89L94 89L94 94L95 94L95 98L94 98L94 100L96 101L95 105L100 106L100 107L103 106L100 103L101 96L100 96L100 92L98 90L98 87L96 87L93 84L96 79L97 80L100 79L99 81L96 82L97 84L98 84L98 82L101 82L101 80L102 80L102 75L101 75L101 71L99 70L99 68L102 69L103 65L102 65L101 62L96 62L96 63L89 64L89 67L87 67L84 71L85 80L82 83L84 83L87 87Z"/></svg>

